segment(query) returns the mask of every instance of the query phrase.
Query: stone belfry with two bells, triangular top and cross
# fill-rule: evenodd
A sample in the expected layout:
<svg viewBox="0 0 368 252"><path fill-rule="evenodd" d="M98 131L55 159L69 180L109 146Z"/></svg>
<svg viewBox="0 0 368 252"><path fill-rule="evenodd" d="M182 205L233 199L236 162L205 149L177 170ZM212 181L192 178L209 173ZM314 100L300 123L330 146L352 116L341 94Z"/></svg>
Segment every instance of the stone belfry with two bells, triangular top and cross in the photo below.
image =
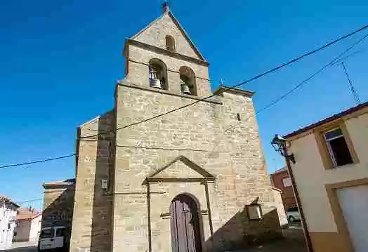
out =
<svg viewBox="0 0 368 252"><path fill-rule="evenodd" d="M162 11L159 18L126 40L126 78L121 83L166 94L211 95L209 63L171 13L167 1Z"/></svg>

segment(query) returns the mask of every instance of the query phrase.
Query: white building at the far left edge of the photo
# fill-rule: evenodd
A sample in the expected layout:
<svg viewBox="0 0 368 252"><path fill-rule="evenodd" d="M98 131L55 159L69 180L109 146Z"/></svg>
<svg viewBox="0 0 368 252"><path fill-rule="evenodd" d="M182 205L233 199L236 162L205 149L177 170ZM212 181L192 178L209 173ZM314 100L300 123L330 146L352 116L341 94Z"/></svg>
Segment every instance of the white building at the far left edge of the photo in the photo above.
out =
<svg viewBox="0 0 368 252"><path fill-rule="evenodd" d="M10 199L0 196L0 250L11 248L18 207Z"/></svg>

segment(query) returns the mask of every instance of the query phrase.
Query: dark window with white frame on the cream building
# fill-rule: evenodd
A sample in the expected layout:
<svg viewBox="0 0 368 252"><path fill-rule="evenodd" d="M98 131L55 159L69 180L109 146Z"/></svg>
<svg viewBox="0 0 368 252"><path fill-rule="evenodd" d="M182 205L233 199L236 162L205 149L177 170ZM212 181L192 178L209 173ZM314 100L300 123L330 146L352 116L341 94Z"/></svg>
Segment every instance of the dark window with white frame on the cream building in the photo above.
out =
<svg viewBox="0 0 368 252"><path fill-rule="evenodd" d="M334 128L323 135L334 167L353 163L353 157L341 128Z"/></svg>

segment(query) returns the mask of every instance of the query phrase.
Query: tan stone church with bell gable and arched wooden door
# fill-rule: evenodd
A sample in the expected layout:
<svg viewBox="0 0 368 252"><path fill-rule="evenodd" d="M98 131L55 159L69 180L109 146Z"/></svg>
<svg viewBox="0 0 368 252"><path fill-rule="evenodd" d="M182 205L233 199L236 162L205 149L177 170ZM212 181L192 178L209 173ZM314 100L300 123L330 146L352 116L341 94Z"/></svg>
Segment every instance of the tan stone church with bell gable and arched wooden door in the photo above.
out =
<svg viewBox="0 0 368 252"><path fill-rule="evenodd" d="M70 251L225 251L279 237L254 93L211 93L209 62L167 6L124 57L114 108L77 130Z"/></svg>

